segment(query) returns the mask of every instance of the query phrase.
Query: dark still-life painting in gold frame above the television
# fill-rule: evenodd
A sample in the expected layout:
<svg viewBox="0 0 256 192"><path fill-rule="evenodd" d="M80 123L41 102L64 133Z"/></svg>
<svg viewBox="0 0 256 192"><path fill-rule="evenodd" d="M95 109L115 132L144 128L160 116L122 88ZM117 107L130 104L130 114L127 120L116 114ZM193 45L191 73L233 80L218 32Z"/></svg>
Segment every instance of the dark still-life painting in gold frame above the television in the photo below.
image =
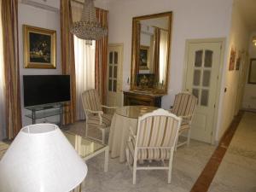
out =
<svg viewBox="0 0 256 192"><path fill-rule="evenodd" d="M56 68L56 31L23 25L24 67Z"/></svg>

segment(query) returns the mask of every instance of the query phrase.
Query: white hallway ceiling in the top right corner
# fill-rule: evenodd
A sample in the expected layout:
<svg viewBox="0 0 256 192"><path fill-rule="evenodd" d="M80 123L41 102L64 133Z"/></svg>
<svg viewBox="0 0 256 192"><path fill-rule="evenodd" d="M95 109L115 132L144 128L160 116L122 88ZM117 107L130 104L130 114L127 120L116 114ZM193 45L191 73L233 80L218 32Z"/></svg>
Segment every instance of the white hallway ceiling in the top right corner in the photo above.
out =
<svg viewBox="0 0 256 192"><path fill-rule="evenodd" d="M256 0L235 0L247 26L251 31L256 31Z"/></svg>

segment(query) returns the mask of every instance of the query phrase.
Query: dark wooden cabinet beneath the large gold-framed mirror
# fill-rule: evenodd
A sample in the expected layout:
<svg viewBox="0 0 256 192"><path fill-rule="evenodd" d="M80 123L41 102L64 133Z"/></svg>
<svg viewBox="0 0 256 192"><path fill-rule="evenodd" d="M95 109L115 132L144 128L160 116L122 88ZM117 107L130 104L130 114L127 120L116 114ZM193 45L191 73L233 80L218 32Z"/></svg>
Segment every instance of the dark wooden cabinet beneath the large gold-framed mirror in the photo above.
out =
<svg viewBox="0 0 256 192"><path fill-rule="evenodd" d="M124 105L145 105L160 108L162 96L139 91L124 91Z"/></svg>

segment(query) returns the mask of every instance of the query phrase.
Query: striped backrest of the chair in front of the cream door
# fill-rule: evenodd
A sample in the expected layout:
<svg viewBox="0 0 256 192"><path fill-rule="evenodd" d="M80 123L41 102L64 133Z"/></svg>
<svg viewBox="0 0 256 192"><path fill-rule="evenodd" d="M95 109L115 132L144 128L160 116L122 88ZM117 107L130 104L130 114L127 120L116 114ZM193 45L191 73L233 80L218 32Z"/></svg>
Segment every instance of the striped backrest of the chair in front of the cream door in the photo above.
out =
<svg viewBox="0 0 256 192"><path fill-rule="evenodd" d="M192 116L195 111L196 104L196 96L193 96L189 92L178 93L174 99L172 113L177 116Z"/></svg>

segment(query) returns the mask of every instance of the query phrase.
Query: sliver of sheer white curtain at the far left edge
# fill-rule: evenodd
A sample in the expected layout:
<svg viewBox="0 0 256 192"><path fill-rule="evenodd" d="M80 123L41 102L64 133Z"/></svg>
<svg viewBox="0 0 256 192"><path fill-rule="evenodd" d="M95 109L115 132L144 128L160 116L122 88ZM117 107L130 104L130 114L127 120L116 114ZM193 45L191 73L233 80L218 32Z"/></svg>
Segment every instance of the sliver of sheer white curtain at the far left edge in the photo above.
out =
<svg viewBox="0 0 256 192"><path fill-rule="evenodd" d="M2 15L2 0L0 1L0 16ZM2 18L2 16L1 16ZM4 73L3 73L3 26L0 20L0 141L6 137L5 135L5 86L4 86Z"/></svg>

